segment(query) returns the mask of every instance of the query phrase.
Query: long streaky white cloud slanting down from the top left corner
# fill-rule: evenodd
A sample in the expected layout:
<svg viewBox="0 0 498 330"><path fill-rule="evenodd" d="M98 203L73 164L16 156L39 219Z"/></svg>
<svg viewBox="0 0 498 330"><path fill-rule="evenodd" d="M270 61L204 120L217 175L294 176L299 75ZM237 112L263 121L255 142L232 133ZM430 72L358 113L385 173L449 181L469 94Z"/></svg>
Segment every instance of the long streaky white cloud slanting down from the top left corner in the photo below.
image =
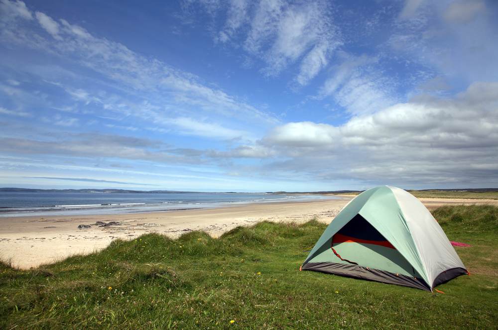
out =
<svg viewBox="0 0 498 330"><path fill-rule="evenodd" d="M9 8L12 7L11 2L5 3ZM31 14L25 5L23 8ZM59 72L61 76L55 78L51 70L26 70L29 74L39 73L42 80L56 80L57 86L63 88L73 99L83 102L85 106L102 107L107 116L133 117L134 120L156 125L161 123L165 126L160 128L165 130L171 129L172 127L168 127L170 125L178 128L175 123L181 124L182 120L177 118L192 118L199 110L213 120L231 122L231 126L237 127L242 127L247 122L257 122L264 129L280 122L271 113L259 110L219 88L208 86L200 77L136 53L121 43L92 35L82 26L65 19L54 19L42 12L36 12L35 16L55 39L39 34L35 26L26 23L25 19L14 17L9 24L3 25L0 31L1 42L61 57L65 62L91 69L97 74L92 74L91 78L87 70L83 70L84 75L73 73L78 77L78 82L90 83L87 84L90 87L85 88L62 71ZM72 68L74 67L73 65ZM46 75L50 77L45 77ZM19 102L22 101L21 98L18 99ZM67 104L59 100L45 103L52 109L67 107ZM82 110L84 111L89 109ZM232 127L218 125L216 128L220 128L220 134L206 134L207 129L190 130L189 134L197 131L204 134L201 136L225 138L235 133Z"/></svg>

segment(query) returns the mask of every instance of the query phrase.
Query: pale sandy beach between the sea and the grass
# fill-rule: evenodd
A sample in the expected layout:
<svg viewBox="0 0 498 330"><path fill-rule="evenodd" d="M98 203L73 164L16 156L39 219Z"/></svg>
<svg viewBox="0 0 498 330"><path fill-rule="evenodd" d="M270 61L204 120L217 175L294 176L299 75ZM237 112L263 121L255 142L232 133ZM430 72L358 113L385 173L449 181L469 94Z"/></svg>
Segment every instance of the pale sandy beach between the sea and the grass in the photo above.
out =
<svg viewBox="0 0 498 330"><path fill-rule="evenodd" d="M27 269L52 263L73 254L101 250L116 238L132 239L156 232L178 237L190 230L212 236L238 225L258 221L305 222L312 218L329 223L352 196L339 200L311 202L254 203L214 209L133 213L102 216L46 216L0 218L0 258ZM421 199L433 209L446 204L495 204L497 200ZM98 226L96 221L118 221L119 225ZM90 228L78 229L78 225Z"/></svg>

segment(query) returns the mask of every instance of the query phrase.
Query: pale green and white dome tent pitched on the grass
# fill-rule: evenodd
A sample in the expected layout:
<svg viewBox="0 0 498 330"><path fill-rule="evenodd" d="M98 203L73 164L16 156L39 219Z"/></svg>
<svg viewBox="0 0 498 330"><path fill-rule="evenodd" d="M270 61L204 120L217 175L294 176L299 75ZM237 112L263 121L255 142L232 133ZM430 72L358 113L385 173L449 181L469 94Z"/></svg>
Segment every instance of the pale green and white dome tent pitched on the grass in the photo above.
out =
<svg viewBox="0 0 498 330"><path fill-rule="evenodd" d="M369 189L329 224L301 266L432 291L468 274L424 205L395 187Z"/></svg>

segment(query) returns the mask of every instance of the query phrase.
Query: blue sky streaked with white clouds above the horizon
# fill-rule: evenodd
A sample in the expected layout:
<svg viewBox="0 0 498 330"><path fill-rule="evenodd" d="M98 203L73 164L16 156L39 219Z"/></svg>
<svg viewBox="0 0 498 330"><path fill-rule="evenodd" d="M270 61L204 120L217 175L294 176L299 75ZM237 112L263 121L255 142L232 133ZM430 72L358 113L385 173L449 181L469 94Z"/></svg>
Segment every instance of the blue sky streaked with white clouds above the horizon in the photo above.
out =
<svg viewBox="0 0 498 330"><path fill-rule="evenodd" d="M0 186L498 187L498 1L0 0Z"/></svg>

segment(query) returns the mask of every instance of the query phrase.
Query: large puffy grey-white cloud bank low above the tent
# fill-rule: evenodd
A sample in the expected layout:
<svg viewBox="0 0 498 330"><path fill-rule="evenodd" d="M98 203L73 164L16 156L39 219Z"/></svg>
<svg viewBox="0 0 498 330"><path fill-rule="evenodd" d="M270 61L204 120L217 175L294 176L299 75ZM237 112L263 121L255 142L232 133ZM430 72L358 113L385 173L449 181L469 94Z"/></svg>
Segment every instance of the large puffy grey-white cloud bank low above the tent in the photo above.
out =
<svg viewBox="0 0 498 330"><path fill-rule="evenodd" d="M287 123L260 143L280 159L265 171L372 184L496 185L498 83L475 83L453 98L420 96L338 126Z"/></svg>

